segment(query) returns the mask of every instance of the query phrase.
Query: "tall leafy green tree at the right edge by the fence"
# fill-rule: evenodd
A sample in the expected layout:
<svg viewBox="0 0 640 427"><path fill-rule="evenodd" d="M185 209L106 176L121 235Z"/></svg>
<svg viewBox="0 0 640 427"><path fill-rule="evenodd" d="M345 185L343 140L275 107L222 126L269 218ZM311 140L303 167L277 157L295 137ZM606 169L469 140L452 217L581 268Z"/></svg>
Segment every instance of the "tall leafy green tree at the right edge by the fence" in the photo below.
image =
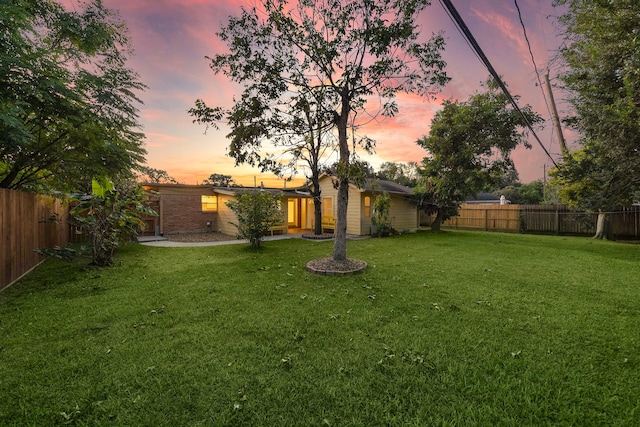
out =
<svg viewBox="0 0 640 427"><path fill-rule="evenodd" d="M560 0L567 12L562 76L581 148L553 171L571 206L605 213L629 205L640 188L640 3Z"/></svg>

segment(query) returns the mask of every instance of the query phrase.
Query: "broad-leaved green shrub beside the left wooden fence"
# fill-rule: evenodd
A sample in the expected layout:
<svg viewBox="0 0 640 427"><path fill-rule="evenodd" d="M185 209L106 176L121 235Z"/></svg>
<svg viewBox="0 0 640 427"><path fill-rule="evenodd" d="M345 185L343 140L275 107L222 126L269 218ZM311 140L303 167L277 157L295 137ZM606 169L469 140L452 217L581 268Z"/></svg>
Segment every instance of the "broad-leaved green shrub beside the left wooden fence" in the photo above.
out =
<svg viewBox="0 0 640 427"><path fill-rule="evenodd" d="M113 265L115 250L144 230L142 215L156 215L144 205L144 190L136 183L116 188L107 178L94 179L92 194L72 198L78 202L71 210L73 220L89 235L92 264L100 267Z"/></svg>

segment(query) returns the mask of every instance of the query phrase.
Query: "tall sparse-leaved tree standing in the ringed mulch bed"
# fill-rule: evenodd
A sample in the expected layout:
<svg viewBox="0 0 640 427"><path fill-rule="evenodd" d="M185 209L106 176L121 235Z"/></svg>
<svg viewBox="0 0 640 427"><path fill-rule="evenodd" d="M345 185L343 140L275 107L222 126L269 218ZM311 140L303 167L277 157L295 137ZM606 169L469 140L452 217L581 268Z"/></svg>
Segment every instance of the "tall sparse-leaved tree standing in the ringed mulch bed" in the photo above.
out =
<svg viewBox="0 0 640 427"><path fill-rule="evenodd" d="M426 0L257 1L243 9L218 36L229 52L211 68L244 90L230 110L197 101L197 121L226 120L232 132L229 154L238 163L277 169L261 156L261 145L277 144L305 121L311 102L319 128L338 137L338 210L333 260L346 260L346 213L350 163L357 146L374 148L355 130L359 117L393 116L398 92L433 95L448 80L440 51L444 40L421 42L415 25ZM372 102L372 100L376 100ZM307 127L308 129L308 127ZM307 133L299 135L304 139Z"/></svg>

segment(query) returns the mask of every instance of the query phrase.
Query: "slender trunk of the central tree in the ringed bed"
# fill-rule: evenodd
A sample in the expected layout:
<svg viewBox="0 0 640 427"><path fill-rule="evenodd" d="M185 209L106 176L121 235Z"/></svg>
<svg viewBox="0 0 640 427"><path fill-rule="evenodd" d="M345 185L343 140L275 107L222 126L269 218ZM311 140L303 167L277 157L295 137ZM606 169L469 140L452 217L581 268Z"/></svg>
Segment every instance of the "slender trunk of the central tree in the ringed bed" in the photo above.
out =
<svg viewBox="0 0 640 427"><path fill-rule="evenodd" d="M347 124L349 120L349 97L347 89L343 89L342 111L336 114L338 127L338 145L340 158L338 160L338 212L336 215L336 230L333 243L333 260L347 259L347 207L349 205L349 142L347 140Z"/></svg>

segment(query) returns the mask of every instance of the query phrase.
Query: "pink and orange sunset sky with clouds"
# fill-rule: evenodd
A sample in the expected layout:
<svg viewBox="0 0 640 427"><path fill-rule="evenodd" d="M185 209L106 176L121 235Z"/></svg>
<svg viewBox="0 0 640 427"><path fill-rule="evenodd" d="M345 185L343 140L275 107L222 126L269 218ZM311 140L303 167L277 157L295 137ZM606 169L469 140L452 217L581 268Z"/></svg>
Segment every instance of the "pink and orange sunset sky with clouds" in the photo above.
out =
<svg viewBox="0 0 640 427"><path fill-rule="evenodd" d="M63 3L69 7L79 4L78 0ZM213 74L205 55L224 52L216 32L230 15L240 12L241 6L251 7L254 3L255 0L103 0L106 7L119 10L127 23L135 50L129 66L149 87L140 95L144 101L140 113L148 166L166 170L185 184L201 183L211 173L222 173L244 185L253 184L254 176L265 185L281 185L273 180L275 177L261 175L257 169L234 167L233 160L225 155L225 135L229 130L223 127L205 135L205 129L193 124L187 114L198 98L211 106L228 107L234 94L239 93L225 76ZM559 11L551 3L518 0L540 74L550 64L552 83L557 83L557 61L553 58L560 43L555 20ZM557 159L560 149L514 1L453 0L453 4L511 93L521 96L520 105L530 104L545 118L544 129L537 130L537 134ZM420 162L426 152L415 141L429 133L431 119L442 100L467 100L489 76L438 0L421 14L417 24L425 34L444 31L443 57L452 81L436 101L401 96L396 117L381 120L362 132L377 141L376 155L360 153L375 168L383 161ZM562 115L563 94L554 95ZM551 165L537 142L531 139L531 143L532 149L519 148L512 156L523 183L542 179L545 165L547 169Z"/></svg>

